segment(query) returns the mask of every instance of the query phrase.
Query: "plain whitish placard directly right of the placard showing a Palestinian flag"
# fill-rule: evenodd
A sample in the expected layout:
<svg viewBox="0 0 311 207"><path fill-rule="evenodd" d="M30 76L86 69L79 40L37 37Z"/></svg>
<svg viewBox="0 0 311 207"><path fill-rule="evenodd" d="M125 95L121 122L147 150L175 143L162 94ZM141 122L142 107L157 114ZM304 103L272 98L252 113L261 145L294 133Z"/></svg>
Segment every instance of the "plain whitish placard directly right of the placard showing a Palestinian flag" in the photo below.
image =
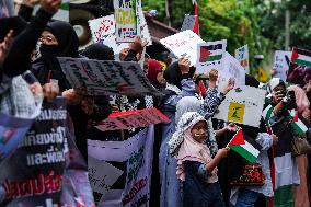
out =
<svg viewBox="0 0 311 207"><path fill-rule="evenodd" d="M245 70L240 62L232 57L229 53L226 53L223 60L223 68L218 73L218 90L222 91L228 80L232 78L235 82L234 88L241 88L245 85Z"/></svg>

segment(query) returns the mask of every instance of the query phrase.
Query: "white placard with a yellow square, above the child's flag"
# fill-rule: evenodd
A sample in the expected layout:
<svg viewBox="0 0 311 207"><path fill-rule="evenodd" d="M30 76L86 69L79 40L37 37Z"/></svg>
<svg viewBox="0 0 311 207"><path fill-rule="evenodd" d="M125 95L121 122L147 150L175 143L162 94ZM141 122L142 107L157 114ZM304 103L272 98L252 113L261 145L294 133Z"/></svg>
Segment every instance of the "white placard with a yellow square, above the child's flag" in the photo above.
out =
<svg viewBox="0 0 311 207"><path fill-rule="evenodd" d="M266 92L262 89L243 87L231 90L218 107L214 118L258 127Z"/></svg>

